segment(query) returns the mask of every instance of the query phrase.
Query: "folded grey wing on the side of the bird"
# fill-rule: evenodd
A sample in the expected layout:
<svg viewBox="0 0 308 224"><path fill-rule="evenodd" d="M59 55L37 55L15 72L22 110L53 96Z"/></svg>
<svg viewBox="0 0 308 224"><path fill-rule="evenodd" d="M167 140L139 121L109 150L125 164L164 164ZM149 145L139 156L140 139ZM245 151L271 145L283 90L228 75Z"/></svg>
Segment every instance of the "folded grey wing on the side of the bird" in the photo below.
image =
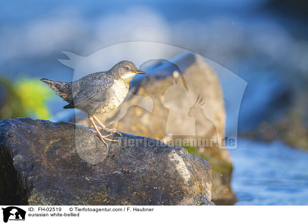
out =
<svg viewBox="0 0 308 224"><path fill-rule="evenodd" d="M83 82L81 90L73 97L72 104L75 108L83 108L89 103L99 103L108 98L108 88L113 84L112 79L89 80Z"/></svg>

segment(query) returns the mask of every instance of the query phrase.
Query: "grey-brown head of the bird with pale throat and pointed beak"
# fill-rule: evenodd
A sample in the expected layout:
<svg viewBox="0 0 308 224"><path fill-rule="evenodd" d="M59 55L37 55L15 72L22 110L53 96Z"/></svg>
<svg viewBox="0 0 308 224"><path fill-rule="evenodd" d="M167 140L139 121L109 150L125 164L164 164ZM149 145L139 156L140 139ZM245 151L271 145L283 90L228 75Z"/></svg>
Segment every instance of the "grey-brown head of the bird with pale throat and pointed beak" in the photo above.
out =
<svg viewBox="0 0 308 224"><path fill-rule="evenodd" d="M122 60L115 64L111 71L117 73L123 80L131 80L137 74L146 74L146 72L140 71L132 62L129 60Z"/></svg>

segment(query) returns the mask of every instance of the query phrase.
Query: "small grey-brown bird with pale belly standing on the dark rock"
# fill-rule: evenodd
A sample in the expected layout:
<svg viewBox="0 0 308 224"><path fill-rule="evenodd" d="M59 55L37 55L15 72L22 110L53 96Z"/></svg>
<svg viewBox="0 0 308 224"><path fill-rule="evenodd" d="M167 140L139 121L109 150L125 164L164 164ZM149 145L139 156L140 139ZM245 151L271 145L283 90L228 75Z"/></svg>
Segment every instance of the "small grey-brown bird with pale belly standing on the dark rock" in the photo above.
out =
<svg viewBox="0 0 308 224"><path fill-rule="evenodd" d="M128 93L129 83L137 74L146 74L146 72L139 70L132 62L122 60L108 71L88 74L70 83L46 78L40 80L69 103L63 107L64 109L76 108L87 113L90 123L108 148L105 140L118 141L108 137L113 133L121 136L121 133L115 129L106 128L96 115L119 107ZM101 126L100 129L109 134L102 135L94 120Z"/></svg>

